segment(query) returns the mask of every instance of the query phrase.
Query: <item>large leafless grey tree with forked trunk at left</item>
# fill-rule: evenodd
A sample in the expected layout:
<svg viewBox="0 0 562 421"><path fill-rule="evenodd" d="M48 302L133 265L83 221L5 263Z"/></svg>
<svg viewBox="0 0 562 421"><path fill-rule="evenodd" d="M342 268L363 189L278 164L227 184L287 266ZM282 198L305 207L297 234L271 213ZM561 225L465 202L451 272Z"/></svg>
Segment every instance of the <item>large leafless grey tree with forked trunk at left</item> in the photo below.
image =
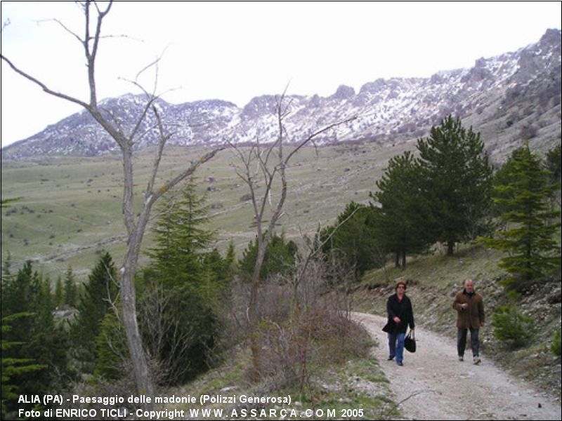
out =
<svg viewBox="0 0 562 421"><path fill-rule="evenodd" d="M133 124L133 128L129 133L126 133L122 125L119 124L117 119L112 118L110 114L104 112L104 110L98 105L98 94L96 89L96 58L98 57L98 48L100 46L101 29L103 25L103 20L110 13L112 8L112 1L98 3L96 1L86 1L80 3L80 6L84 11L84 35L80 36L68 29L62 22L55 20L66 32L69 32L75 39L79 41L81 47L83 48L84 55L86 56L86 71L88 75L89 84L89 100L81 100L79 98L74 98L72 95L67 95L62 92L53 91L53 89L46 86L45 83L39 79L32 76L30 73L24 72L22 69L17 67L11 60L8 60L4 55L1 55L1 60L4 60L14 72L20 74L20 76L31 81L37 86L41 87L48 95L53 95L56 98L61 98L63 100L73 102L75 104L84 107L93 119L95 119L111 136L122 152L122 162L123 162L123 173L124 173L124 195L123 195L123 215L124 224L127 232L127 246L126 255L124 258L123 265L119 270L120 280L119 287L121 290L122 298L122 310L123 310L123 323L126 331L127 342L129 345L129 351L131 353L131 359L133 363L133 369L136 377L136 384L139 394L154 394L154 387L152 379L150 378L150 372L148 369L148 363L145 358L145 352L143 350L143 344L141 341L141 335L138 330L138 323L136 317L136 295L133 286L133 276L137 269L138 255L141 250L141 243L143 241L143 236L145 234L145 228L148 224L150 218L150 211L152 210L152 205L169 189L178 185L179 182L188 178L189 175L194 173L197 168L206 163L211 158L213 158L217 152L219 152L223 147L217 147L211 152L204 154L197 161L190 162L181 173L178 173L176 177L163 185L157 186L157 174L160 160L162 159L162 152L166 142L171 138L174 133L167 131L166 125L162 122L162 118L159 115L156 100L159 96L156 94L156 86L152 92L144 91L145 93L145 103L143 105L143 112L138 120ZM151 65L157 64L156 60ZM144 71L145 69L143 69ZM141 71L141 72L143 72ZM136 86L142 88L138 83ZM156 85L156 83L155 83ZM143 123L146 123L148 115L153 114L157 124L152 129L157 131L158 145L155 154L155 159L152 165L152 172L150 173L148 179L148 185L144 192L144 201L141 208L141 212L138 215L134 212L133 207L133 145L140 140L146 132L141 133L141 128L143 128Z"/></svg>

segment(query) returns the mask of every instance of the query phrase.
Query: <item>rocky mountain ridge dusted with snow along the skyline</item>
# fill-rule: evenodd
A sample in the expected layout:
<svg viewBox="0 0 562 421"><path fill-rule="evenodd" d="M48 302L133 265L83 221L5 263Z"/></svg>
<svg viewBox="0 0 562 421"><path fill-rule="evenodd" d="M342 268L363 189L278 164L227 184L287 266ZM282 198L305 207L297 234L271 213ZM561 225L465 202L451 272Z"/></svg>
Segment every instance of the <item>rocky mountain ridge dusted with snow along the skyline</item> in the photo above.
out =
<svg viewBox="0 0 562 421"><path fill-rule="evenodd" d="M523 132L541 138L545 133L540 133L540 128L556 124L554 116L556 112L559 114L561 103L561 44L561 31L548 29L537 43L492 58L478 58L469 69L440 71L429 78L376 79L364 83L357 93L350 86L340 85L327 97L287 95L291 107L285 119L287 133L298 133L289 135L289 142L351 116L359 118L328 131L318 142L374 140L381 135L418 137L443 117L453 114L477 129L490 123L498 126L497 121L506 126L502 129L515 126L507 130L508 140L502 140L501 145L487 145L492 152L513 149L513 145L506 148L505 142L515 140L515 135ZM173 126L176 132L169 141L171 145L215 145L225 140L268 142L275 138L273 111L277 98L278 95L261 95L244 107L216 99L178 105L158 99L156 105L164 123ZM127 132L132 130L143 102L143 95L128 93L105 98L100 102L100 109ZM530 130L527 127L525 132L519 126L533 113L535 125L541 127ZM544 116L542 120L541 116ZM560 133L559 121L558 126L548 131L549 139L542 142L553 142L556 128ZM140 132L146 134L137 140L137 149L155 145L153 116L144 121ZM2 159L96 156L116 149L117 144L83 110L2 148Z"/></svg>

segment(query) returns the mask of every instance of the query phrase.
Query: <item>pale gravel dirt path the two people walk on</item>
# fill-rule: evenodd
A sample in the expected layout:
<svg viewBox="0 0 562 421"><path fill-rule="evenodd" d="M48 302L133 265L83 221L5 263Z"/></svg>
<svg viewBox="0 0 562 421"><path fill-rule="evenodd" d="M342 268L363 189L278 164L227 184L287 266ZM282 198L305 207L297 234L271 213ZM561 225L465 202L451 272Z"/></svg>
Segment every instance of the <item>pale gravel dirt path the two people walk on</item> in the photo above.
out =
<svg viewBox="0 0 562 421"><path fill-rule="evenodd" d="M379 342L374 354L408 420L561 420L560 403L500 370L485 355L475 366L467 350L460 362L454 341L417 327L417 352L405 351L399 367L386 360L388 340L381 331L386 320L364 313L353 313L353 319Z"/></svg>

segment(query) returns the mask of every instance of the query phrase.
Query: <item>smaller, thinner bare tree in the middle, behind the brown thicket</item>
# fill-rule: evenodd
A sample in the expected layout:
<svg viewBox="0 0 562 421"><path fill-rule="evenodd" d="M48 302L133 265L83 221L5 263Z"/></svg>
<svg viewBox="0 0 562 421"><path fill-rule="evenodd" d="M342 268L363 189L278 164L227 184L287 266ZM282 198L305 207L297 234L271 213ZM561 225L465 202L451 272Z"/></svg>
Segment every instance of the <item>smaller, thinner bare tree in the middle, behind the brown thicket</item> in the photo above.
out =
<svg viewBox="0 0 562 421"><path fill-rule="evenodd" d="M259 287L261 284L260 273L263 266L263 259L266 255L266 249L270 242L275 226L283 215L283 206L287 199L287 167L294 156L306 145L315 145L317 139L322 133L326 133L341 124L355 120L353 116L343 121L337 121L305 135L302 139L290 138L285 128L285 119L291 112L291 101L286 101L285 92L277 98L275 105L275 117L277 124L277 137L269 144L261 144L259 141L249 147L242 149L233 143L230 146L235 150L241 165L236 166L237 175L248 186L251 196L251 205L254 208L254 223L256 226L258 253L254 272L251 276L251 291L249 305L247 309L247 317L250 326L259 321L259 312L257 300L259 297ZM291 143L294 146L287 146ZM259 183L263 183L263 190L259 193ZM274 190L278 189L274 198ZM253 337L252 337L253 338ZM256 366L259 359L257 358L258 349L253 340L251 344L251 352L254 361L254 373L259 375L259 367Z"/></svg>

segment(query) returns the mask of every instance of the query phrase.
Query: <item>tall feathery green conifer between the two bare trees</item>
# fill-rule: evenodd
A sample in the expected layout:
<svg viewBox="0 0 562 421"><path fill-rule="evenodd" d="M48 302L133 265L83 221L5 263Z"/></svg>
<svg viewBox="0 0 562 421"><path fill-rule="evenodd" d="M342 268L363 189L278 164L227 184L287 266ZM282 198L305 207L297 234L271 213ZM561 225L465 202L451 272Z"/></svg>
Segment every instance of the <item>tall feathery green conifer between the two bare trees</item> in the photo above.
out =
<svg viewBox="0 0 562 421"><path fill-rule="evenodd" d="M231 276L205 228L209 206L195 185L160 208L152 264L139 283L139 314L150 354L166 384L185 382L211 366L220 333L217 312Z"/></svg>

